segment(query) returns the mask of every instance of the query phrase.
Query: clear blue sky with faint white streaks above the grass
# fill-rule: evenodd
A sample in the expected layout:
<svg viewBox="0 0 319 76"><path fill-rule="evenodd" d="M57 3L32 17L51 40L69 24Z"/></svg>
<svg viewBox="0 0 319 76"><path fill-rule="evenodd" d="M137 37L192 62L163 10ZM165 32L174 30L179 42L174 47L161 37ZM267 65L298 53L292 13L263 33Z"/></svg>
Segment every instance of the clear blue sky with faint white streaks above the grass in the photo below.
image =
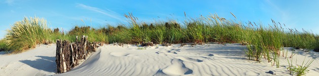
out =
<svg viewBox="0 0 319 76"><path fill-rule="evenodd" d="M254 21L267 25L271 19L285 23L289 28L302 28L319 34L319 1L43 1L43 0L0 0L0 37L4 37L10 25L23 17L47 19L50 28L69 30L75 25L99 27L106 24L125 23L123 16L133 13L140 21L175 19L183 21L187 17L207 16L217 13L220 17L242 22Z"/></svg>

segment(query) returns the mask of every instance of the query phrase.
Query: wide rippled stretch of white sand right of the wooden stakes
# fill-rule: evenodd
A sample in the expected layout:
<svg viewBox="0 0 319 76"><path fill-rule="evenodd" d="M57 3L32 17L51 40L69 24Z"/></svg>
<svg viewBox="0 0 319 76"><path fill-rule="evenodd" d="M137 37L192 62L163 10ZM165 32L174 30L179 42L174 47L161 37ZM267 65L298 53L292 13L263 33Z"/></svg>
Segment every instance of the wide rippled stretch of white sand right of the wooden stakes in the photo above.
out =
<svg viewBox="0 0 319 76"><path fill-rule="evenodd" d="M241 45L136 48L100 47L79 67L56 75L289 75L285 67L245 59Z"/></svg>

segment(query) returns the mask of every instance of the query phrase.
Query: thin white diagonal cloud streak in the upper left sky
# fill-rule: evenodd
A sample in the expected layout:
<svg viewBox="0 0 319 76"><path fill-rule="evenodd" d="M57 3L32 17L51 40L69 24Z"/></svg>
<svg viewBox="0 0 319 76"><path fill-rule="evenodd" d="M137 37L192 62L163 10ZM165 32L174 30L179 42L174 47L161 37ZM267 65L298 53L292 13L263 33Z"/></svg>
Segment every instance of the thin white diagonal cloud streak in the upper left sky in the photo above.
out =
<svg viewBox="0 0 319 76"><path fill-rule="evenodd" d="M90 10L90 11L94 11L97 13L101 13L101 14L107 15L109 17L112 17L114 19L123 20L123 19L121 19L120 15L118 13L111 11L109 9L102 10L102 9L87 6L84 4L77 4L77 7L80 7L80 8L86 9L86 10Z"/></svg>

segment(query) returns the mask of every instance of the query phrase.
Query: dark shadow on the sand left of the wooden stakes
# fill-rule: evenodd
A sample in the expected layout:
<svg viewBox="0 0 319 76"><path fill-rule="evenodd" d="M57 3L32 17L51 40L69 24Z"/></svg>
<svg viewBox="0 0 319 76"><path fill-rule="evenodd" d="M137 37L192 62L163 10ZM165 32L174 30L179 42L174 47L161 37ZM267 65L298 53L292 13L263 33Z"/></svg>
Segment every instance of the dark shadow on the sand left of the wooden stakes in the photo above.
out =
<svg viewBox="0 0 319 76"><path fill-rule="evenodd" d="M20 60L20 62L25 63L33 68L47 71L47 72L56 72L56 63L55 57L49 56L36 56L40 57L36 60Z"/></svg>

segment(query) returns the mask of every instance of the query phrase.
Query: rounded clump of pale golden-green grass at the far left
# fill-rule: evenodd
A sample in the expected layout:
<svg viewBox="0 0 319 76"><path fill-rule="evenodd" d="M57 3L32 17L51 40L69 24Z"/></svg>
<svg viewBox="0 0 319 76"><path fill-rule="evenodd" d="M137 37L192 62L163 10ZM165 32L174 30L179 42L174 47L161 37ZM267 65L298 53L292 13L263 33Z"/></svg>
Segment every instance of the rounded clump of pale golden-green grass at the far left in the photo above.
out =
<svg viewBox="0 0 319 76"><path fill-rule="evenodd" d="M7 30L5 42L9 48L15 50L13 53L19 53L35 48L37 44L49 44L51 32L44 18L24 17L22 21L14 23L11 29Z"/></svg>

